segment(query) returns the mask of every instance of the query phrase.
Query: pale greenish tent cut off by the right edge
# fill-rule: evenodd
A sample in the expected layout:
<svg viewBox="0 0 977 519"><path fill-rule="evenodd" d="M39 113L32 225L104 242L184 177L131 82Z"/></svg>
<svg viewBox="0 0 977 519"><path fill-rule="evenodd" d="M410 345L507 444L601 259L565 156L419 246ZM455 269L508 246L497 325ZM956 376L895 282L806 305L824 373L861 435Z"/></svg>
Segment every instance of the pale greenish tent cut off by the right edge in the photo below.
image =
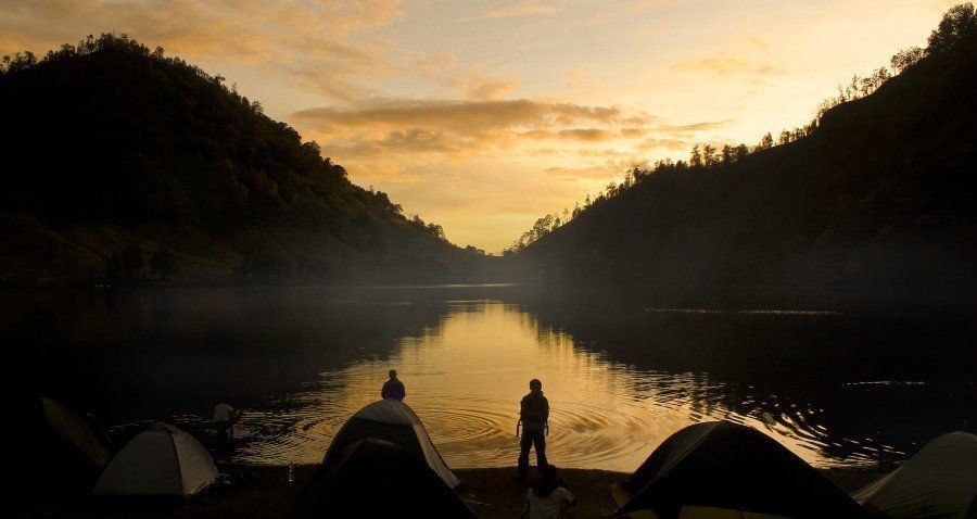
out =
<svg viewBox="0 0 977 519"><path fill-rule="evenodd" d="M852 497L887 517L967 518L977 517L975 495L977 435L957 431L931 440L905 465Z"/></svg>

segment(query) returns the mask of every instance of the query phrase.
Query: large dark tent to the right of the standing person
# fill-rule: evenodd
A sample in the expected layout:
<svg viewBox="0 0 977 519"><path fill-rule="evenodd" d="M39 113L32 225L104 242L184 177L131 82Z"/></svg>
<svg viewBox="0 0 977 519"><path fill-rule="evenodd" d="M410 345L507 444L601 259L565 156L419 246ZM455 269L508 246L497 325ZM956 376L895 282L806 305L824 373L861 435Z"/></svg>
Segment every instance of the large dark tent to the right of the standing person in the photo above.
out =
<svg viewBox="0 0 977 519"><path fill-rule="evenodd" d="M864 516L851 497L775 440L728 421L672 434L612 493L621 512L661 519L722 517L722 510L737 510L736 517Z"/></svg>

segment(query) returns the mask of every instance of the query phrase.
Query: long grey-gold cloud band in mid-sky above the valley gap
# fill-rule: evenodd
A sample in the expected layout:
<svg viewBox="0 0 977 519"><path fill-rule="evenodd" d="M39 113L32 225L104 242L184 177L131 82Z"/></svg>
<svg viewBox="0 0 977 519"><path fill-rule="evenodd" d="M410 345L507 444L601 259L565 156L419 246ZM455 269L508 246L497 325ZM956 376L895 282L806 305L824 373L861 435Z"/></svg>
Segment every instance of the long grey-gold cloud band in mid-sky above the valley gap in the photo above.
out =
<svg viewBox="0 0 977 519"><path fill-rule="evenodd" d="M562 151L529 143L551 140L582 145L622 139L620 128L634 118L651 117L619 106L530 99L372 99L344 107L303 110L291 117L304 135L319 140L325 152L339 161L378 156L417 161L432 153L442 160L479 154L498 160L499 151L513 149L525 156L555 155Z"/></svg>

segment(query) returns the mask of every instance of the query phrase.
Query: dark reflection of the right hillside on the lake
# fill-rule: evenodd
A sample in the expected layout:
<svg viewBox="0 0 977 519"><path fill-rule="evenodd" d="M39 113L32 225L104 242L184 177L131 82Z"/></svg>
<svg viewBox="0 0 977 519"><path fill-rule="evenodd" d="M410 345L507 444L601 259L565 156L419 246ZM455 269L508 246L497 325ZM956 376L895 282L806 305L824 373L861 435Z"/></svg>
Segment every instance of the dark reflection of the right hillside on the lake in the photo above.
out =
<svg viewBox="0 0 977 519"><path fill-rule="evenodd" d="M823 463L901 459L977 418L969 308L906 312L811 293L620 295L521 301L578 347L708 379L699 400L808 442Z"/></svg>

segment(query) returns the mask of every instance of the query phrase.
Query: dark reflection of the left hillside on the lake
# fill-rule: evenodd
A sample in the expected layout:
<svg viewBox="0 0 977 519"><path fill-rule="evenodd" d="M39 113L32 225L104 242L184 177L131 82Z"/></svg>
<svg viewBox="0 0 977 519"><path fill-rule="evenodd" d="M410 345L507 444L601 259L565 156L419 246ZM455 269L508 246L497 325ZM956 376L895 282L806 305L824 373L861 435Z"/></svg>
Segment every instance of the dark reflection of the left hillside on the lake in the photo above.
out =
<svg viewBox="0 0 977 519"><path fill-rule="evenodd" d="M5 291L0 307L20 383L110 422L264 403L445 312L321 289Z"/></svg>

